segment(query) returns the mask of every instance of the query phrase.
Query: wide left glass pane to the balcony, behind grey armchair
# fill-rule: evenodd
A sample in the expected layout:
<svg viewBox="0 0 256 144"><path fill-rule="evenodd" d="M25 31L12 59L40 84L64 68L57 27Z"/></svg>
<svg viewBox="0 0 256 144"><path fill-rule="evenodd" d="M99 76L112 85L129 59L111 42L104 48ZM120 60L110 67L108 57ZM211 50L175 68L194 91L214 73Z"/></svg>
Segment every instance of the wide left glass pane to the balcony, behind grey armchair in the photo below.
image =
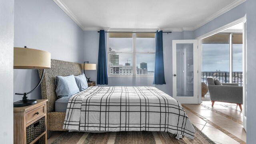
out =
<svg viewBox="0 0 256 144"><path fill-rule="evenodd" d="M202 43L202 82L214 77L229 83L229 34L215 34Z"/></svg>

